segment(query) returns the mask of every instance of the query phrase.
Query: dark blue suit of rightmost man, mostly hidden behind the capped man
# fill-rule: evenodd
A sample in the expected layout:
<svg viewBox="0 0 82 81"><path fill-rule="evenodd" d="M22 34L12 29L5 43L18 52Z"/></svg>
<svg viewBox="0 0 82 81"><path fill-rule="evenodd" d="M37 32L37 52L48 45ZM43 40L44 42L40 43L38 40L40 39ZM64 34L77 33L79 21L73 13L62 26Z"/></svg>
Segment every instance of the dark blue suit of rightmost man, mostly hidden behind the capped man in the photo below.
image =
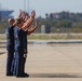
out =
<svg viewBox="0 0 82 81"><path fill-rule="evenodd" d="M26 30L26 31L24 31L24 50L25 50L25 52L24 52L24 54L27 54L27 33L28 33L28 31ZM24 67L23 67L23 71L24 71L24 73L25 73L25 63L26 63L26 57L24 57Z"/></svg>

